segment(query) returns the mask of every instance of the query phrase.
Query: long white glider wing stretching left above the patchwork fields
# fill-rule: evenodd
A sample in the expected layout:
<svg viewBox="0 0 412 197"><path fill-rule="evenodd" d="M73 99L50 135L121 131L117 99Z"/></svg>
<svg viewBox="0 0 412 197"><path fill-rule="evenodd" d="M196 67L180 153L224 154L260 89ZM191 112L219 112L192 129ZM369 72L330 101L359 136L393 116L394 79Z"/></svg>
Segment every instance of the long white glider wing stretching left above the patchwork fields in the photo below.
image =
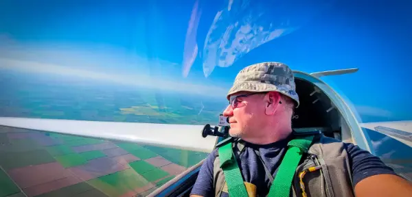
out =
<svg viewBox="0 0 412 197"><path fill-rule="evenodd" d="M202 137L203 125L100 122L43 118L0 117L0 125L49 131L104 140L122 140L153 146L210 153L217 137Z"/></svg>

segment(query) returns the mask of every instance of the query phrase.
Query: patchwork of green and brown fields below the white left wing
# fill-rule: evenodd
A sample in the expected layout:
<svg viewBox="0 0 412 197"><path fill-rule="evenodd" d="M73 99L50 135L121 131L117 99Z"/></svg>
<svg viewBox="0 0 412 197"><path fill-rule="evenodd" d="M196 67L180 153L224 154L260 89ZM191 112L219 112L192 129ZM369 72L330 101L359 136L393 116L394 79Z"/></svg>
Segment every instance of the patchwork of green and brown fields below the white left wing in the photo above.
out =
<svg viewBox="0 0 412 197"><path fill-rule="evenodd" d="M146 196L206 153L0 127L0 197Z"/></svg>

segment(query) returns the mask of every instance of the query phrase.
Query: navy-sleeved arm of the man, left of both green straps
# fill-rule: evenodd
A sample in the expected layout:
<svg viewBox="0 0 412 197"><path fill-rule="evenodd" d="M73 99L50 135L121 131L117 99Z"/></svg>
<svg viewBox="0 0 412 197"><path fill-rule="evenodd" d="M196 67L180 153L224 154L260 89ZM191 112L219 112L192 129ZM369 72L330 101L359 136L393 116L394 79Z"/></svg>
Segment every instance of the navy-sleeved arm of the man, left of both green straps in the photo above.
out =
<svg viewBox="0 0 412 197"><path fill-rule="evenodd" d="M203 161L196 183L194 183L190 197L214 196L213 163L216 159L216 150L213 150Z"/></svg>

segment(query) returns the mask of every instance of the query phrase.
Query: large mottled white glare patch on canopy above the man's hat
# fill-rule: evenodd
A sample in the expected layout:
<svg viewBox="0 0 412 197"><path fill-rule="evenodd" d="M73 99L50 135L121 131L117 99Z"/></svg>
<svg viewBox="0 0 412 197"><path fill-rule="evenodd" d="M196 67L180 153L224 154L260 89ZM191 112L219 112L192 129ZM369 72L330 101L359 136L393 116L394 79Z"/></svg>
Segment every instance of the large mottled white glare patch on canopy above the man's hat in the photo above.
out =
<svg viewBox="0 0 412 197"><path fill-rule="evenodd" d="M265 6L249 4L249 1L229 1L227 9L216 14L203 49L205 77L213 72L215 66L231 66L256 47L297 29L289 24L288 19L274 24L268 20L274 16L266 14Z"/></svg>

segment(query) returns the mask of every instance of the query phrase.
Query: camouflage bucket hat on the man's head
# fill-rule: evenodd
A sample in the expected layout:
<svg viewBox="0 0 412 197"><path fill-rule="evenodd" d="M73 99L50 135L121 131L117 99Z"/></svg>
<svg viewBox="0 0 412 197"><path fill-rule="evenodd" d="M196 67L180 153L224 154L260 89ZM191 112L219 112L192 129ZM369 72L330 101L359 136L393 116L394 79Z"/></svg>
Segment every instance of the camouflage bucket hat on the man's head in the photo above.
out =
<svg viewBox="0 0 412 197"><path fill-rule="evenodd" d="M231 94L241 91L279 92L296 101L296 107L299 106L295 77L289 66L283 63L263 62L243 68L227 93L227 99Z"/></svg>

